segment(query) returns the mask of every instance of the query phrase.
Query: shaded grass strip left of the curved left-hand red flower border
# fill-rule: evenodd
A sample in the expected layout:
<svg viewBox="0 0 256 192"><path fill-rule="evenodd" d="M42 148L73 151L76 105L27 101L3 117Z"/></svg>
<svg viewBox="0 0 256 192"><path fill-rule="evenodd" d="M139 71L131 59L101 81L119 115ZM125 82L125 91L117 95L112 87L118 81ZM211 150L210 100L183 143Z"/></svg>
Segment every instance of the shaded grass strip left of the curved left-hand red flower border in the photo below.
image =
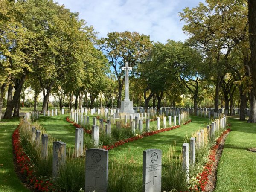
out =
<svg viewBox="0 0 256 192"><path fill-rule="evenodd" d="M12 133L17 128L19 119L2 119L0 123L0 191L29 192L17 177L12 152Z"/></svg>

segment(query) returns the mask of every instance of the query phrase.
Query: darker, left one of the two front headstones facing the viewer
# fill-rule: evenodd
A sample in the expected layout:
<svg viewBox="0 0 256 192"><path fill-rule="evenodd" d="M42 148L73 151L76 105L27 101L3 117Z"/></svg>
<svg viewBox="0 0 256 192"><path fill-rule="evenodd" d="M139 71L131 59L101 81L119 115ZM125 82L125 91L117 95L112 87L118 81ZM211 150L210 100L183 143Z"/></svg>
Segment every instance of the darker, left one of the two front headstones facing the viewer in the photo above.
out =
<svg viewBox="0 0 256 192"><path fill-rule="evenodd" d="M85 158L85 192L107 192L108 151L87 149Z"/></svg>

